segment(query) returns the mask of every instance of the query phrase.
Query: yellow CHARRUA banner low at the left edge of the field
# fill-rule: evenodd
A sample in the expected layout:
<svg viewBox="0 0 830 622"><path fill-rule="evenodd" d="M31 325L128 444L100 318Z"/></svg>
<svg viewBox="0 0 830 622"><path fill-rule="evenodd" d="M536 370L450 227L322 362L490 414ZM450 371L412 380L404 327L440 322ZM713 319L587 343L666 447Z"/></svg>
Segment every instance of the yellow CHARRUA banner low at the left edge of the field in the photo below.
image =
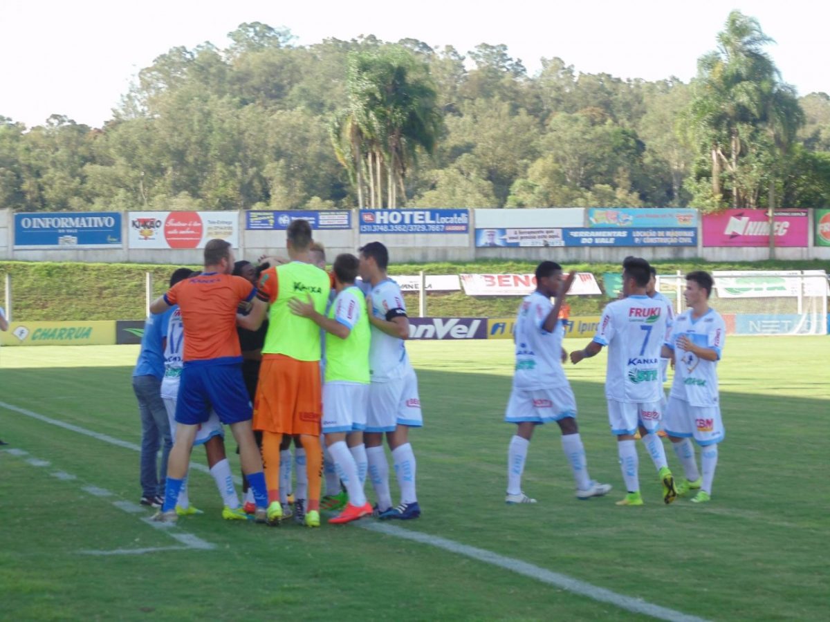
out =
<svg viewBox="0 0 830 622"><path fill-rule="evenodd" d="M12 322L0 333L3 346L109 346L115 322Z"/></svg>

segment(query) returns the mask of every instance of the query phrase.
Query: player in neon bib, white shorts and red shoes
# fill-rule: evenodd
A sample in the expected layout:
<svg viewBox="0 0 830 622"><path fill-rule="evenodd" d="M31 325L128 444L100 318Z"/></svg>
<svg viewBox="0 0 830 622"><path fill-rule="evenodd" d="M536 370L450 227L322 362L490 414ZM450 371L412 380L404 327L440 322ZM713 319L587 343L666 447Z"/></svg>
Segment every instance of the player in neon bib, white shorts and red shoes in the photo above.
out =
<svg viewBox="0 0 830 622"><path fill-rule="evenodd" d="M289 301L291 311L312 319L325 329L325 382L323 384L323 433L334 459L339 482L349 501L339 516L329 522L351 522L372 513L364 493L366 450L363 431L369 408L369 315L363 291L354 285L359 260L338 255L334 260L337 296L326 315L300 299ZM347 445L348 442L348 445ZM359 464L363 464L361 477Z"/></svg>

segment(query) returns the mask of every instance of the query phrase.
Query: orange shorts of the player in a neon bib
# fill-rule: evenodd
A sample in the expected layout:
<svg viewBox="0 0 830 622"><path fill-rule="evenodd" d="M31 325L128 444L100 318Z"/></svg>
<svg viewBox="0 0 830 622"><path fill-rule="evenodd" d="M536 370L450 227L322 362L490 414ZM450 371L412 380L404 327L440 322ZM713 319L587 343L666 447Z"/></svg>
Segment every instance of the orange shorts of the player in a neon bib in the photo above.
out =
<svg viewBox="0 0 830 622"><path fill-rule="evenodd" d="M254 400L254 430L320 436L320 362L283 354L262 357Z"/></svg>

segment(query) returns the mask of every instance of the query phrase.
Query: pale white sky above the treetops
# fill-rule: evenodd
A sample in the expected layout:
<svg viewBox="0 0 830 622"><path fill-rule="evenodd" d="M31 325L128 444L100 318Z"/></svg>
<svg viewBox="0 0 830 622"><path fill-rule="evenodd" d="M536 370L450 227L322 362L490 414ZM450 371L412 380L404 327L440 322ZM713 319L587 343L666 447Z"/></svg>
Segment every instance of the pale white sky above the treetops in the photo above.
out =
<svg viewBox="0 0 830 622"><path fill-rule="evenodd" d="M688 81L733 8L774 38L768 51L799 95L830 92L821 0L0 0L0 116L100 127L156 56L203 41L224 48L242 22L288 27L300 45L374 34L466 54L504 43L531 74L559 56L584 73Z"/></svg>

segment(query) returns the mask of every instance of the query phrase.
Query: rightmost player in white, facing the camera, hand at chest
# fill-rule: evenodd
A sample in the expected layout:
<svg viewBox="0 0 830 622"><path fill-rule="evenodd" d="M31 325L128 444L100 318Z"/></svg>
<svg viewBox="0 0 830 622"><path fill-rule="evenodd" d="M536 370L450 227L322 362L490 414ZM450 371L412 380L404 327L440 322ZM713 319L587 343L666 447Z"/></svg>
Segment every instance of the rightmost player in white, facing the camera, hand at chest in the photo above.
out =
<svg viewBox="0 0 830 622"><path fill-rule="evenodd" d="M695 503L709 501L718 464L718 443L724 440L724 425L718 401L718 361L726 340L726 325L720 313L709 306L714 281L702 270L686 275L684 297L689 307L677 316L663 354L675 360L675 377L663 425L677 458L683 465L686 481L677 493L700 489ZM703 475L697 470L694 437L701 445Z"/></svg>

